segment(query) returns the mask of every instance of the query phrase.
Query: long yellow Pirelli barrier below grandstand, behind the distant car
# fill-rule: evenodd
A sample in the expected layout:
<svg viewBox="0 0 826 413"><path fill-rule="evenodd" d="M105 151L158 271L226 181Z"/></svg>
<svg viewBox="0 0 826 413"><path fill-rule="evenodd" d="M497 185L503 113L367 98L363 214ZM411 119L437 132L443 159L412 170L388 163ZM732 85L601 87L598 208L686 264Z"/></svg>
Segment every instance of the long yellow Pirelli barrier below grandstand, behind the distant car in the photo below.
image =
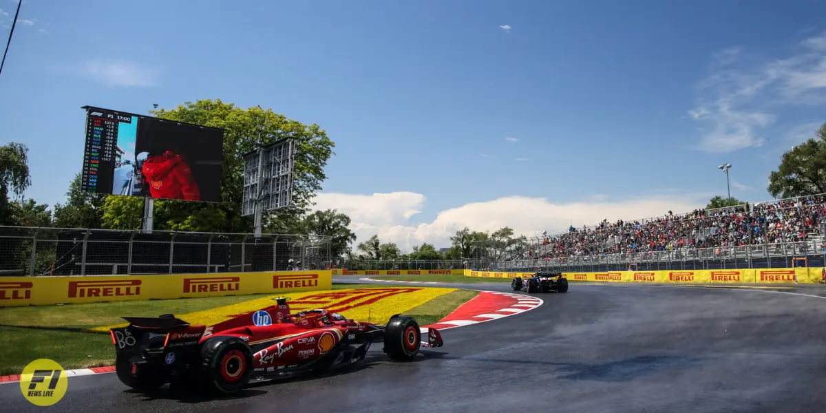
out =
<svg viewBox="0 0 826 413"><path fill-rule="evenodd" d="M533 273L500 273L466 271L468 277L514 278ZM720 283L720 284L789 284L817 283L823 278L823 268L771 269L695 269L685 271L607 271L605 273L563 273L569 281L651 282L651 283Z"/></svg>

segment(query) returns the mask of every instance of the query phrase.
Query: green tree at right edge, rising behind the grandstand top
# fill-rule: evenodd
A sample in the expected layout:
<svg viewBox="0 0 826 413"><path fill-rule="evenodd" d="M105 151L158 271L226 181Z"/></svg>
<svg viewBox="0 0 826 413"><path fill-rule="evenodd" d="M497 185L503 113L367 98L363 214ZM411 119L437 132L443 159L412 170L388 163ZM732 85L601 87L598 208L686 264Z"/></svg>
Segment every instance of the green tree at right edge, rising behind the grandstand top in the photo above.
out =
<svg viewBox="0 0 826 413"><path fill-rule="evenodd" d="M826 123L817 138L806 140L783 154L781 164L769 174L772 197L802 197L826 192Z"/></svg>

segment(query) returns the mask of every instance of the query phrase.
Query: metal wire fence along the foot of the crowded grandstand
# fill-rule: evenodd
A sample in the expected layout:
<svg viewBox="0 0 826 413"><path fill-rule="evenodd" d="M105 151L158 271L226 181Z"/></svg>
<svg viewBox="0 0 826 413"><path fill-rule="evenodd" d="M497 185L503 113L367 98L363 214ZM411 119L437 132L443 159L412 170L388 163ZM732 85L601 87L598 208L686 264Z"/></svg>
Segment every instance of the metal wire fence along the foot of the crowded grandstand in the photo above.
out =
<svg viewBox="0 0 826 413"><path fill-rule="evenodd" d="M477 265L484 264L477 263ZM703 249L673 249L627 254L574 256L563 259L516 259L491 263L496 271L653 271L726 268L793 268L826 266L821 240ZM482 269L474 268L474 269Z"/></svg>

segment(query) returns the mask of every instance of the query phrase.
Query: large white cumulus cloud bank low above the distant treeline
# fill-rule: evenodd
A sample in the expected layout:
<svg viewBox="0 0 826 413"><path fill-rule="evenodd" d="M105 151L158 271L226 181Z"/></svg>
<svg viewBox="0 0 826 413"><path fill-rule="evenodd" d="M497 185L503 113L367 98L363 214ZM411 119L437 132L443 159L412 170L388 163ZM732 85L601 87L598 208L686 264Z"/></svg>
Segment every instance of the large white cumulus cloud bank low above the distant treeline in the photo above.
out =
<svg viewBox="0 0 826 413"><path fill-rule="evenodd" d="M502 197L487 202L472 202L440 211L433 221L415 223L425 207L424 195L415 192L353 195L321 192L316 209L336 209L349 215L350 230L359 242L378 235L382 242L394 242L410 252L424 242L436 248L450 245L450 237L465 226L471 230L493 231L510 226L516 234L537 236L547 230L558 234L569 225L596 225L609 221L644 219L663 216L667 211L688 212L705 207L708 194L670 194L610 200L605 195L582 202L554 203L539 197Z"/></svg>

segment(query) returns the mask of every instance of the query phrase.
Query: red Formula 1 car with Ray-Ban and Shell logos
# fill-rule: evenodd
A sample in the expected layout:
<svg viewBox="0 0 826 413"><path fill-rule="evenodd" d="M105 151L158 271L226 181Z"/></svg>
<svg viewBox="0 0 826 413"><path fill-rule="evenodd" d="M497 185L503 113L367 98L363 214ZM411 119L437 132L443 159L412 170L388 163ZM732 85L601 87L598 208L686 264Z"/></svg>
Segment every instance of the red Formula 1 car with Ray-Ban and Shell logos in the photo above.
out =
<svg viewBox="0 0 826 413"><path fill-rule="evenodd" d="M415 358L420 346L441 347L439 330L421 340L418 323L392 316L387 325L345 319L326 310L290 314L286 298L216 325L190 325L171 314L123 317L113 328L117 377L138 390L171 383L230 394L248 382L344 368L382 340L391 359Z"/></svg>

